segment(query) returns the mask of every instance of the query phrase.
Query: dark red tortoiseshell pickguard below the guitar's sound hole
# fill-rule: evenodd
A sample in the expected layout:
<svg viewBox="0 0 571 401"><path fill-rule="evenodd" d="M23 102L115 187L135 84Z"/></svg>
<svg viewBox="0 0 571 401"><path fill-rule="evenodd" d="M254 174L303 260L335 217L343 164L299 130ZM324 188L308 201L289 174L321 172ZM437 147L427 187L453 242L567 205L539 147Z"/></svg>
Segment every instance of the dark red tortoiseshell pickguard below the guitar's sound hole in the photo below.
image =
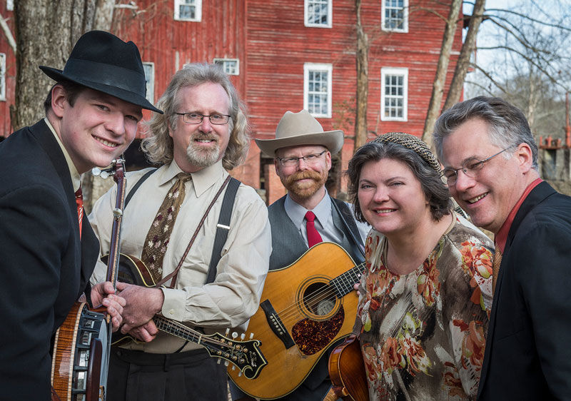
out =
<svg viewBox="0 0 571 401"><path fill-rule="evenodd" d="M339 308L329 320L311 320L305 318L293 325L291 334L295 345L305 355L313 355L327 347L341 330L345 320L343 307Z"/></svg>

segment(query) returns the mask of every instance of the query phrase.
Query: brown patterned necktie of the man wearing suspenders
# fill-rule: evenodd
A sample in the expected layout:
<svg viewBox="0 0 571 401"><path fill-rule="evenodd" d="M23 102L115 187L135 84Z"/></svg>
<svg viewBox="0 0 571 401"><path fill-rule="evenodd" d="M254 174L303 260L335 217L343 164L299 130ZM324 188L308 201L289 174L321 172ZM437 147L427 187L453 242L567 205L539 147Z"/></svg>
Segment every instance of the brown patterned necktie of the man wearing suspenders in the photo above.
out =
<svg viewBox="0 0 571 401"><path fill-rule="evenodd" d="M191 179L191 175L178 173L176 178L178 180L166 193L163 204L158 208L153 223L151 223L141 254L141 260L151 271L156 282L163 277L163 259L166 248L173 232L176 215L184 200L184 183Z"/></svg>

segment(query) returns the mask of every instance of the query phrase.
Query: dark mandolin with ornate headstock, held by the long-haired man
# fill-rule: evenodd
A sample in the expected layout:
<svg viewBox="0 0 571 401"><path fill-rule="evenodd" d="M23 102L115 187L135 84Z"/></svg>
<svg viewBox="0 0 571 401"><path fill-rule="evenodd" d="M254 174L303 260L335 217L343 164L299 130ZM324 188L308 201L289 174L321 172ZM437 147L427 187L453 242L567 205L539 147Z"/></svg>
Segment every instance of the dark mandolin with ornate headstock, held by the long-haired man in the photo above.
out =
<svg viewBox="0 0 571 401"><path fill-rule="evenodd" d="M106 263L107 258L108 255L104 255L101 258L103 263ZM117 275L117 279L123 283L156 287L153 275L145 263L131 255L123 253L119 255ZM250 336L250 340L244 340L246 337L245 333L240 336L240 339L238 339L238 333L236 332L232 333L232 338L219 333L205 335L198 330L189 328L176 320L164 318L161 315L155 315L153 322L158 330L201 345L206 348L211 357L225 360L227 365L231 363L234 369L238 367L240 375L244 375L248 379L258 377L262 368L268 364L260 350L261 341L253 339L253 335ZM230 329L227 329L226 335L229 332ZM120 332L117 332L113 334L111 344L121 345L128 341L137 342L138 340L130 335L121 335Z"/></svg>

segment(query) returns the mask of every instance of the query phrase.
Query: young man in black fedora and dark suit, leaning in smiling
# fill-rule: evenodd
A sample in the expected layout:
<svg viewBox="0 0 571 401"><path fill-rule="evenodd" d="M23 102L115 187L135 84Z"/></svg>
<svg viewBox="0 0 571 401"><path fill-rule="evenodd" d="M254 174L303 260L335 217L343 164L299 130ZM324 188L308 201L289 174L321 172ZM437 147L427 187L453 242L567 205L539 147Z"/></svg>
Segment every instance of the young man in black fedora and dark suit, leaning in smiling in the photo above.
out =
<svg viewBox="0 0 571 401"><path fill-rule="evenodd" d="M111 283L89 291L98 245L80 175L127 148L141 108L161 112L146 101L135 44L106 32L81 36L64 71L40 68L56 81L46 118L0 143L2 400L49 399L50 340L84 291L107 307L113 328L121 323L125 300Z"/></svg>

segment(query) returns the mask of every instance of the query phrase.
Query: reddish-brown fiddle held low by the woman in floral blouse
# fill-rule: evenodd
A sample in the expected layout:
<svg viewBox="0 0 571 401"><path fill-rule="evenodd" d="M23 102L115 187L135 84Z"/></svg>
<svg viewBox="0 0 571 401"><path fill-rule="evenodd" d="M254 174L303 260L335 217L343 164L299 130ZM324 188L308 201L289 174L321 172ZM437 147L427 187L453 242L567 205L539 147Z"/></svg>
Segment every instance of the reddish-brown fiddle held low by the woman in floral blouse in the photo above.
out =
<svg viewBox="0 0 571 401"><path fill-rule="evenodd" d="M329 355L329 377L335 398L350 401L368 401L369 387L358 337L354 334L343 344L333 348Z"/></svg>

